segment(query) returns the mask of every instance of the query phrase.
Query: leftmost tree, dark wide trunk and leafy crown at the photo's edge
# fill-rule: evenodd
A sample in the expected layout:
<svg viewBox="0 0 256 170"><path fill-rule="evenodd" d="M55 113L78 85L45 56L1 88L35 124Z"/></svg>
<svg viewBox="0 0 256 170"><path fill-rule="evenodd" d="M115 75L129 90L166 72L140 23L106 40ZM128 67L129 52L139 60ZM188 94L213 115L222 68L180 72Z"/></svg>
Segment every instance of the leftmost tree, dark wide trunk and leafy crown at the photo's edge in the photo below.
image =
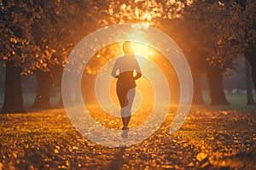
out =
<svg viewBox="0 0 256 170"><path fill-rule="evenodd" d="M30 29L41 13L32 1L1 1L0 3L0 59L6 64L5 95L2 112L25 112L23 106L20 73L29 67L29 60L38 48ZM33 59L35 60L35 59Z"/></svg>

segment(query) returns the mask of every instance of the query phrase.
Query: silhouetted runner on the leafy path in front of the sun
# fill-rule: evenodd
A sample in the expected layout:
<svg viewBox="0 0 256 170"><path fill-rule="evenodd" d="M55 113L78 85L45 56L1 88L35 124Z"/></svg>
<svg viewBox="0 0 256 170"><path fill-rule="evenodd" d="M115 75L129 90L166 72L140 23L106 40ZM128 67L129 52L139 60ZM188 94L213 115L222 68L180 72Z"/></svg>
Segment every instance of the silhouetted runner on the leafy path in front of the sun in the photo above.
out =
<svg viewBox="0 0 256 170"><path fill-rule="evenodd" d="M131 42L125 41L122 44L122 50L125 55L115 61L112 76L118 78L116 93L121 106L121 116L124 125L122 130L129 131L128 124L131 120L131 105L136 88L135 80L142 77L142 72L131 48ZM133 76L134 71L136 71L135 77Z"/></svg>

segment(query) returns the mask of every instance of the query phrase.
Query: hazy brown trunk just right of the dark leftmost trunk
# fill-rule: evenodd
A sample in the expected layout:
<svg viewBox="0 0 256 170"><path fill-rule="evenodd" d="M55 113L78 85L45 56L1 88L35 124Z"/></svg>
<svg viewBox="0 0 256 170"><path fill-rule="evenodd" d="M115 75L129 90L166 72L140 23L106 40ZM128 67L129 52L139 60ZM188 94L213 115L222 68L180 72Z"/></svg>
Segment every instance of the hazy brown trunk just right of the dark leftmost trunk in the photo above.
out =
<svg viewBox="0 0 256 170"><path fill-rule="evenodd" d="M37 72L38 90L34 104L35 109L50 109L50 88L52 86L53 78L49 72Z"/></svg>

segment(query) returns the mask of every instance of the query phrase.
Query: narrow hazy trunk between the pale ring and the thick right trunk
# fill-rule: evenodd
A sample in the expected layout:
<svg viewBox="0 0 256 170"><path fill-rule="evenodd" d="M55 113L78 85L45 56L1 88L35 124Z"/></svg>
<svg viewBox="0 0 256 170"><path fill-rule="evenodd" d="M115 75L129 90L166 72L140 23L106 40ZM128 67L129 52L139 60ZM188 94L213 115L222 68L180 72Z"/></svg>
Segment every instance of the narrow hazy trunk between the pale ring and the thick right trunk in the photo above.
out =
<svg viewBox="0 0 256 170"><path fill-rule="evenodd" d="M202 98L201 73L193 74L193 80L194 80L193 105L202 105L204 104L204 100Z"/></svg>

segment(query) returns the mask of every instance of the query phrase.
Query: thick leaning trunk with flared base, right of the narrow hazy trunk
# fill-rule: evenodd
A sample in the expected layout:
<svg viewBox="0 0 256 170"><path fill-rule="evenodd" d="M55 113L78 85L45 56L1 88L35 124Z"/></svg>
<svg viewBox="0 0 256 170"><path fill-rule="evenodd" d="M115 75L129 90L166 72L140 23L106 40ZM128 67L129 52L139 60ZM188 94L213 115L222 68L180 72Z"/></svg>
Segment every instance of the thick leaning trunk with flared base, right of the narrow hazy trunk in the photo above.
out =
<svg viewBox="0 0 256 170"><path fill-rule="evenodd" d="M224 94L221 71L218 68L208 67L207 79L212 99L211 105L230 105Z"/></svg>

